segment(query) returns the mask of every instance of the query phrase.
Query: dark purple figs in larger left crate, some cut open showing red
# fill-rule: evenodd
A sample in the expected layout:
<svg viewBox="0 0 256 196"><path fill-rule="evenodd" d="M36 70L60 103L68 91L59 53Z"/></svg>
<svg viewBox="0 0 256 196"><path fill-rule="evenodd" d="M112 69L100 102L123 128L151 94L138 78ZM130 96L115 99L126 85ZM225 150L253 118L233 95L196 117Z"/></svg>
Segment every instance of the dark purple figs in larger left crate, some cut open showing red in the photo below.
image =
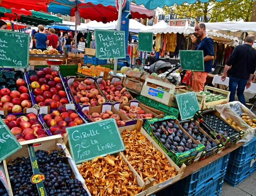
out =
<svg viewBox="0 0 256 196"><path fill-rule="evenodd" d="M166 149L174 153L184 153L197 147L173 120L155 122L152 131Z"/></svg>

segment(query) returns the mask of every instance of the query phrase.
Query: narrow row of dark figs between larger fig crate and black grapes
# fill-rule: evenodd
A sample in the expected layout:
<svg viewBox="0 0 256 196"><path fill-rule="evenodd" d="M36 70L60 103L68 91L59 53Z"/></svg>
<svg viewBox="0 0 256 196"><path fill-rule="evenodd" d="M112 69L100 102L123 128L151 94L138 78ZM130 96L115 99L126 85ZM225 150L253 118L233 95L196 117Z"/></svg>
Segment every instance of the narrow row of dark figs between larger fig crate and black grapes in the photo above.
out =
<svg viewBox="0 0 256 196"><path fill-rule="evenodd" d="M189 135L195 139L200 141L206 147L206 150L209 150L217 144L212 141L207 135L204 135L202 132L198 130L198 126L195 125L194 122L181 123L180 126L187 132ZM192 128L193 127L193 128Z"/></svg>

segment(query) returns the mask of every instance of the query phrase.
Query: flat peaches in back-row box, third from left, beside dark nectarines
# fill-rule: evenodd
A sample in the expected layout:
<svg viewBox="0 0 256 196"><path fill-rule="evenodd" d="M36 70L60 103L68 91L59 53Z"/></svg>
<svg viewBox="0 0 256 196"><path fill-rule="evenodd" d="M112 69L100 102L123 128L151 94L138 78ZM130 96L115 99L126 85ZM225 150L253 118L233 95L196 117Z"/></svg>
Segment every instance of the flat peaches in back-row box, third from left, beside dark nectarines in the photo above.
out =
<svg viewBox="0 0 256 196"><path fill-rule="evenodd" d="M72 86L69 85L69 87L76 103L95 107L106 102L105 98L99 95L99 91L90 79L85 79L81 83L74 81Z"/></svg>

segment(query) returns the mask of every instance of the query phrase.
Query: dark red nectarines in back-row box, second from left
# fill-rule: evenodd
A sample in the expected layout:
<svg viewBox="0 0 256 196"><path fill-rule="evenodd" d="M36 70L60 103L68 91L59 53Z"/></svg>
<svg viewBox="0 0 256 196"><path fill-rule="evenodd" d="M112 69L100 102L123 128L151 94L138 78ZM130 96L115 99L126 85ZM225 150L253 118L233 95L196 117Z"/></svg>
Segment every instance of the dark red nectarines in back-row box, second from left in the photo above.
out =
<svg viewBox="0 0 256 196"><path fill-rule="evenodd" d="M57 71L46 67L43 71L36 72L36 75L31 75L29 81L35 96L35 103L39 106L56 109L58 106L69 103Z"/></svg>

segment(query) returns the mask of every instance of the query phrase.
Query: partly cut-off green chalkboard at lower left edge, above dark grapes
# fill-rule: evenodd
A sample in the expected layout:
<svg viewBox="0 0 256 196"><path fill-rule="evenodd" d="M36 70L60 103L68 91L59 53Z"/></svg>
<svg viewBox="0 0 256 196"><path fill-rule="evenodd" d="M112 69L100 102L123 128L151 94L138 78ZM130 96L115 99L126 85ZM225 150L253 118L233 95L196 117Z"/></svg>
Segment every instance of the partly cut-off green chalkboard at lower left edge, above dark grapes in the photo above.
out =
<svg viewBox="0 0 256 196"><path fill-rule="evenodd" d="M0 161L12 155L21 148L20 143L0 118Z"/></svg>

